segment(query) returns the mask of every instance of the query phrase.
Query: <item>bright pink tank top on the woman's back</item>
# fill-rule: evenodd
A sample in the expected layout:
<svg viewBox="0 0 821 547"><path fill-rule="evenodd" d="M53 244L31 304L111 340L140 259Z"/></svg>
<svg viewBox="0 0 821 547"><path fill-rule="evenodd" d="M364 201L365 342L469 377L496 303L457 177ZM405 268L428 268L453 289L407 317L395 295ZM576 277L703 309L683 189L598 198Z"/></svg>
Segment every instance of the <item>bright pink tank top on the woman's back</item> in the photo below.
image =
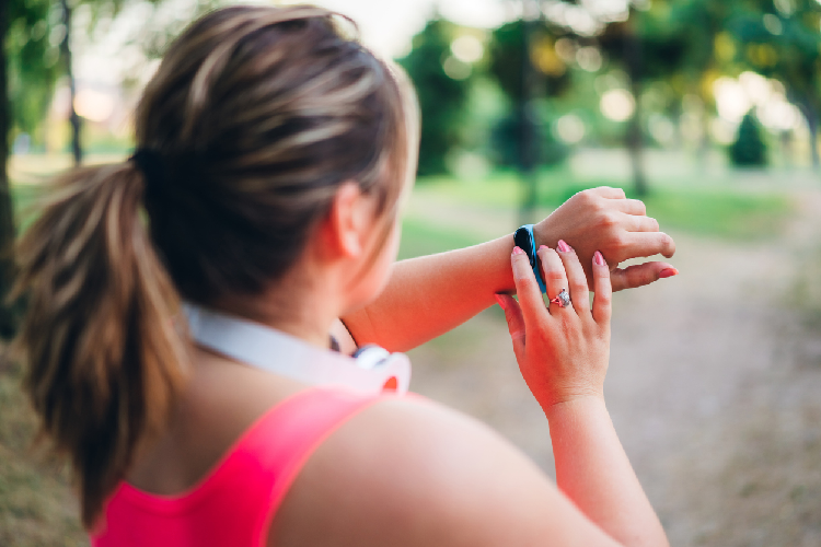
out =
<svg viewBox="0 0 821 547"><path fill-rule="evenodd" d="M277 508L314 449L375 400L311 388L259 417L183 494L157 496L122 482L92 546L264 546Z"/></svg>

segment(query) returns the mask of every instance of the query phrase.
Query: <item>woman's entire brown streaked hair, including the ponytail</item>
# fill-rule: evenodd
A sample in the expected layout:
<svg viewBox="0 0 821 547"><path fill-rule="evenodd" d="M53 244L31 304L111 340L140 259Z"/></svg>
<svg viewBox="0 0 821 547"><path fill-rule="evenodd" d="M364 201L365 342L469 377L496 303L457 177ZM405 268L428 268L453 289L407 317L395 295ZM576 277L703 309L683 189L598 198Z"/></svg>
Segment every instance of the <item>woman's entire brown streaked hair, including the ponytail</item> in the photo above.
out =
<svg viewBox="0 0 821 547"><path fill-rule="evenodd" d="M86 527L185 381L180 295L209 305L263 291L346 181L392 218L418 128L407 80L338 15L232 7L171 45L136 136L157 170L62 176L18 244L25 386L71 458Z"/></svg>

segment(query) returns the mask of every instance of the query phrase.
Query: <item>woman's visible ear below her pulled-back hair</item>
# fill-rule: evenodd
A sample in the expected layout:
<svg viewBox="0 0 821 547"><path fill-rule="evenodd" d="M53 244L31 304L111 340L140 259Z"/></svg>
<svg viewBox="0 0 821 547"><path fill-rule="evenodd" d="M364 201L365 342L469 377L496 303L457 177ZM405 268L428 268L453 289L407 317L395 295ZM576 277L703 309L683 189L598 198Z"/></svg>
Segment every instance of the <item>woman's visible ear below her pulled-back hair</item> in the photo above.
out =
<svg viewBox="0 0 821 547"><path fill-rule="evenodd" d="M373 203L355 182L336 190L327 218L320 226L326 248L338 257L356 258L365 252L373 224Z"/></svg>

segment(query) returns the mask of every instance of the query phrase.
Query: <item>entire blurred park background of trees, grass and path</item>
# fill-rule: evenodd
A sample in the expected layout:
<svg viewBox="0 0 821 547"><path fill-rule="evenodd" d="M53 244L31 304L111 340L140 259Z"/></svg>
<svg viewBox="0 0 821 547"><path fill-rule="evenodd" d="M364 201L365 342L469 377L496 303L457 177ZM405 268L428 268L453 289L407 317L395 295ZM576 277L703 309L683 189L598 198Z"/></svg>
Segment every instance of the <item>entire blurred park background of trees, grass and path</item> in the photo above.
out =
<svg viewBox="0 0 821 547"><path fill-rule="evenodd" d="M0 245L37 183L130 153L169 40L228 3L2 0ZM644 199L681 275L616 295L605 391L672 544L821 545L821 4L315 3L357 21L417 88L401 256L510 233L587 187ZM0 261L3 291L9 277ZM7 339L18 313L0 312ZM412 360L414 389L553 474L500 310ZM0 362L0 545L85 545L65 467L31 447L20 377Z"/></svg>

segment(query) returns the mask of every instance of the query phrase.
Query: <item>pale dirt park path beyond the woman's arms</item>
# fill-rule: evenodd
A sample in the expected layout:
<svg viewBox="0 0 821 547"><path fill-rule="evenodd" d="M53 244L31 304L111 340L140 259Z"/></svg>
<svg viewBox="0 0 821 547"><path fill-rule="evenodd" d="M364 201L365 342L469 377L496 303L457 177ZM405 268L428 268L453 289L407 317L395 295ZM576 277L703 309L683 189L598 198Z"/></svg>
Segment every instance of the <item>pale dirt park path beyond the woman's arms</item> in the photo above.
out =
<svg viewBox="0 0 821 547"><path fill-rule="evenodd" d="M790 193L783 234L673 233L681 275L614 299L608 407L673 546L821 545L821 328L796 289L801 278L821 286L821 189ZM437 207L447 209L423 209ZM489 423L553 474L547 423L500 310L412 359L414 389Z"/></svg>

